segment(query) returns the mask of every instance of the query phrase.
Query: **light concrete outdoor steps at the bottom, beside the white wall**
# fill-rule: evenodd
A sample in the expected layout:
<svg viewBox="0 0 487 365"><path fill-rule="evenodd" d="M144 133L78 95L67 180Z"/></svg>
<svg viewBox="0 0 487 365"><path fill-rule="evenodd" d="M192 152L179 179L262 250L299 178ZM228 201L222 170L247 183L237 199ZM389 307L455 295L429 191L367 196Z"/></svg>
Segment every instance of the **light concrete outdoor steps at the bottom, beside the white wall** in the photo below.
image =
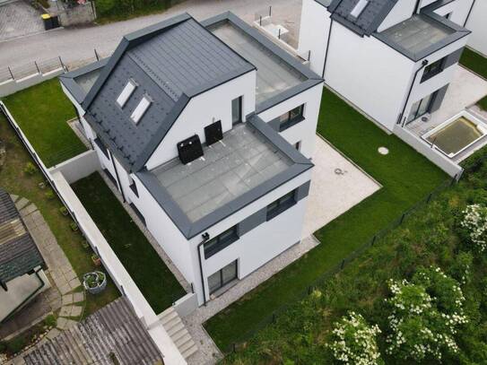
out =
<svg viewBox="0 0 487 365"><path fill-rule="evenodd" d="M189 335L189 332L187 332L186 326L176 310L170 307L164 310L158 317L161 320L162 326L164 326L185 359L198 351L196 343L191 338L191 335Z"/></svg>

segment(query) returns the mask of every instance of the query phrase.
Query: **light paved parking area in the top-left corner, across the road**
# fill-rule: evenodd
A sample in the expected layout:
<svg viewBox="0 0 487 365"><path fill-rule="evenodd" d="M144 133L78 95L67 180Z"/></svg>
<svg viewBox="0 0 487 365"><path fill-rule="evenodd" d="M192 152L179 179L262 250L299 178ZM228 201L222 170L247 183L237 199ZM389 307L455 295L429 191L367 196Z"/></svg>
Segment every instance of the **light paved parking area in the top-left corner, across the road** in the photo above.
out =
<svg viewBox="0 0 487 365"><path fill-rule="evenodd" d="M40 15L27 1L0 5L0 42L44 31Z"/></svg>

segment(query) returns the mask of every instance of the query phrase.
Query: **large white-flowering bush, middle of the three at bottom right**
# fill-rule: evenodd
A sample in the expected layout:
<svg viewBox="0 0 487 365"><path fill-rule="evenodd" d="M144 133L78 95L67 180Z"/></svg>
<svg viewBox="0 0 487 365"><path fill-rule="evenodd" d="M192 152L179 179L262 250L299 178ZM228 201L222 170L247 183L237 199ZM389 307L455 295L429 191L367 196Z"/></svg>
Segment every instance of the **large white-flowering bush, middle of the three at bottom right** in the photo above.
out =
<svg viewBox="0 0 487 365"><path fill-rule="evenodd" d="M387 353L399 359L440 361L458 352L454 335L465 324L465 298L455 279L437 267L419 270L412 282L389 281Z"/></svg>

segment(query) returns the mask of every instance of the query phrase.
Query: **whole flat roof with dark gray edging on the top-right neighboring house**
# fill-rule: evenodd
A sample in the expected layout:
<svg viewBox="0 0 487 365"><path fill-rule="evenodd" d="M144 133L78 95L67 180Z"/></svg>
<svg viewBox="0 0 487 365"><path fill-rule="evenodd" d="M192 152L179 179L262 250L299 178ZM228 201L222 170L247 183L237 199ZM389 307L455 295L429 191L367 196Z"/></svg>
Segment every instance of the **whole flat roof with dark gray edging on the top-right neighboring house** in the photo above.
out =
<svg viewBox="0 0 487 365"><path fill-rule="evenodd" d="M436 13L427 13L413 15L376 36L405 56L419 60L469 32Z"/></svg>

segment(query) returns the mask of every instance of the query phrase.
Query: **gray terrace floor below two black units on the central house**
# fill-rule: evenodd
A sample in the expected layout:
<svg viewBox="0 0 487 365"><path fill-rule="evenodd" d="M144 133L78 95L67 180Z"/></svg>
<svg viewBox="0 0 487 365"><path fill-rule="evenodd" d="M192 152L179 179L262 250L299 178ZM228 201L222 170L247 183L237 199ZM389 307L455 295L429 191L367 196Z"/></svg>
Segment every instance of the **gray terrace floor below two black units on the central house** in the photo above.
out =
<svg viewBox="0 0 487 365"><path fill-rule="evenodd" d="M183 165L174 159L152 170L172 199L196 222L291 166L292 161L255 129L242 123L204 157Z"/></svg>

